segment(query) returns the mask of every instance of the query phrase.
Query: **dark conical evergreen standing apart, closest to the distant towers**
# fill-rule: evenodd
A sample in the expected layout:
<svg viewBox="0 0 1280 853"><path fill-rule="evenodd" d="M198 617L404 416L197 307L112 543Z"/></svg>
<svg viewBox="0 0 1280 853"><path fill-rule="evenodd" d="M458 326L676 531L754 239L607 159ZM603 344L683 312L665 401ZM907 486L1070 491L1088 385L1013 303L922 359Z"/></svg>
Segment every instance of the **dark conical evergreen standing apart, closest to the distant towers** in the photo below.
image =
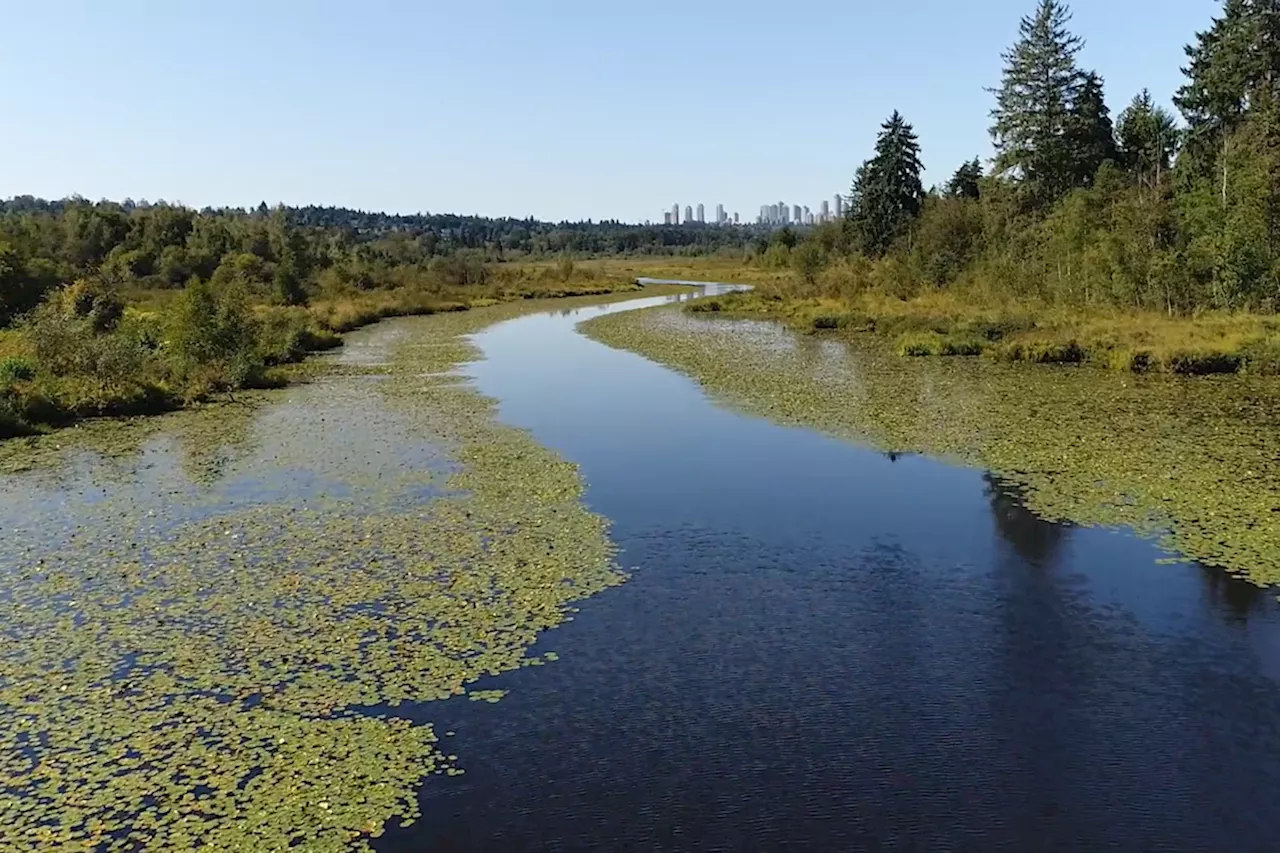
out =
<svg viewBox="0 0 1280 853"><path fill-rule="evenodd" d="M920 215L924 184L920 183L920 143L902 115L881 126L876 156L858 169L849 218L863 251L884 255Z"/></svg>

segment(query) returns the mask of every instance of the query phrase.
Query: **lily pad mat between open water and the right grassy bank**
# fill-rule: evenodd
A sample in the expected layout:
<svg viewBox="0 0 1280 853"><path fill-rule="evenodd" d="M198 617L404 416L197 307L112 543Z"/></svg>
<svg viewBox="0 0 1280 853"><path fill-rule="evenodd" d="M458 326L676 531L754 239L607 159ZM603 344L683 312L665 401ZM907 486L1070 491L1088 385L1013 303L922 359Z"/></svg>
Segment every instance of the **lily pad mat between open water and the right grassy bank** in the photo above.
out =
<svg viewBox="0 0 1280 853"><path fill-rule="evenodd" d="M1048 520L1133 528L1172 553L1280 583L1277 378L904 359L877 341L675 309L582 330L745 411L986 467Z"/></svg>

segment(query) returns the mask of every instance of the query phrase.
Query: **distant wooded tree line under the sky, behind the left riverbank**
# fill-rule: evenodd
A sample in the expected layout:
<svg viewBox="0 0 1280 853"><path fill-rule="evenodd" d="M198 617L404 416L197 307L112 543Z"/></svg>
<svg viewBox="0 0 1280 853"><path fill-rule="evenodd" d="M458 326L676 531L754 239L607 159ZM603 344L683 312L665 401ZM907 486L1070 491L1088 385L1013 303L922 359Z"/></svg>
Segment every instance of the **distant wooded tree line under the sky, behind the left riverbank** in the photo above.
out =
<svg viewBox="0 0 1280 853"><path fill-rule="evenodd" d="M445 214L396 215L343 207L193 210L20 196L0 201L0 325L55 287L95 278L111 287L183 287L193 278L241 282L305 301L310 286L367 289L397 270L435 265L466 279L477 263L577 255L704 255L741 251L745 231L544 223ZM458 280L456 283L468 283Z"/></svg>

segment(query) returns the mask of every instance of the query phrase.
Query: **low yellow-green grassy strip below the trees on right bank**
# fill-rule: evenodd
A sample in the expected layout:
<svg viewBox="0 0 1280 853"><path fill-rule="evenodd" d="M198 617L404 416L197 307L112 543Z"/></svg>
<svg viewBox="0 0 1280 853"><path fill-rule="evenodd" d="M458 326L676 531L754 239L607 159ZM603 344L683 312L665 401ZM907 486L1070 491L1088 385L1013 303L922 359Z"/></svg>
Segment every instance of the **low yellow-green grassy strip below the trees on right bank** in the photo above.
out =
<svg viewBox="0 0 1280 853"><path fill-rule="evenodd" d="M1085 310L933 291L822 296L774 275L750 293L689 307L776 318L805 333L874 333L902 356L1087 364L1125 373L1280 374L1280 316Z"/></svg>

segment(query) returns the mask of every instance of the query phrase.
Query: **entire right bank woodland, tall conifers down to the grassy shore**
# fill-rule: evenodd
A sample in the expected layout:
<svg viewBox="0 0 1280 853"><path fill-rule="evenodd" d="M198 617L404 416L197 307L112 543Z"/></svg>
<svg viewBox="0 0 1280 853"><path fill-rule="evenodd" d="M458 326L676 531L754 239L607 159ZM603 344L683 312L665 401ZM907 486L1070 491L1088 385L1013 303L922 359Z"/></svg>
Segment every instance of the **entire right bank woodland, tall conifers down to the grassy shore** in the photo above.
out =
<svg viewBox="0 0 1280 853"><path fill-rule="evenodd" d="M989 163L925 190L895 113L847 218L774 234L762 260L791 275L741 306L879 327L911 355L1280 370L1280 0L1226 0L1194 35L1181 120L1148 91L1112 118L1070 20L1060 0L1021 20Z"/></svg>

